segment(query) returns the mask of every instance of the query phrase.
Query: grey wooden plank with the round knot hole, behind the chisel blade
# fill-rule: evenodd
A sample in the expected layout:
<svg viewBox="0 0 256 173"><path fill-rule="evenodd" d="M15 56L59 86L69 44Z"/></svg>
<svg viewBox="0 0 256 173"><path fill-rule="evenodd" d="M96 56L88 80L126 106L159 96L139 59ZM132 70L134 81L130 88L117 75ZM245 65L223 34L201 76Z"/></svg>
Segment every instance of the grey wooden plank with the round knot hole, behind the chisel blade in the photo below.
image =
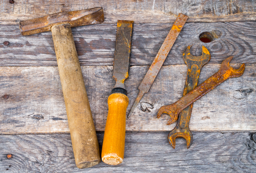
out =
<svg viewBox="0 0 256 173"><path fill-rule="evenodd" d="M150 65L172 24L134 24L131 65ZM256 22L186 23L165 65L184 64L182 52L192 45L192 54L201 55L202 45L211 53L209 63L221 63L234 56L233 63L256 63ZM113 65L116 24L98 24L72 29L82 66ZM211 32L210 43L199 40ZM8 46L3 42L9 41ZM0 66L57 66L51 32L22 36L18 25L0 25Z"/></svg>

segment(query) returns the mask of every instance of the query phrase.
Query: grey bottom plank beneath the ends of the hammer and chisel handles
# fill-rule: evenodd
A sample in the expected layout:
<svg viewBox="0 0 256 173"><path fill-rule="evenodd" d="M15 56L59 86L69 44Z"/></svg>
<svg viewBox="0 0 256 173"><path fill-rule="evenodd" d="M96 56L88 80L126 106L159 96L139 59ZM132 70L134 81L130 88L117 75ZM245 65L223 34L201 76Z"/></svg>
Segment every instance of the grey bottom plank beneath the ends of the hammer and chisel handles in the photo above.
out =
<svg viewBox="0 0 256 173"><path fill-rule="evenodd" d="M219 172L252 173L256 169L255 134L194 133L187 149L178 138L173 149L168 133L126 133L124 161L78 169L69 134L1 135L0 171L6 172ZM253 140L254 138L254 140ZM101 149L103 133L98 134ZM12 154L8 159L7 154Z"/></svg>

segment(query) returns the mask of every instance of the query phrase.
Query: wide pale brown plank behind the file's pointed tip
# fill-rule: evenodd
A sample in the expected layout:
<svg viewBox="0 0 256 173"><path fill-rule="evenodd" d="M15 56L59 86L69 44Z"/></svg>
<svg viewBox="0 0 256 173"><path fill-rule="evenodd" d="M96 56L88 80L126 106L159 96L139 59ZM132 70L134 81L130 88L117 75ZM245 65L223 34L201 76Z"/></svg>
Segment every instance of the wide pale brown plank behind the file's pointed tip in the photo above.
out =
<svg viewBox="0 0 256 173"><path fill-rule="evenodd" d="M231 64L238 67L238 64ZM203 67L199 83L218 71L220 64ZM129 105L135 101L138 86L148 66L132 66L125 81ZM114 87L112 66L82 66L84 82L97 131L104 131L108 114L107 99ZM256 131L256 65L247 64L244 74L231 78L194 103L192 131ZM145 94L132 116L128 131L170 131L168 115L157 119L163 105L181 96L187 66L163 66L150 91ZM68 133L68 122L57 67L0 67L0 133ZM8 99L3 96L8 95Z"/></svg>

